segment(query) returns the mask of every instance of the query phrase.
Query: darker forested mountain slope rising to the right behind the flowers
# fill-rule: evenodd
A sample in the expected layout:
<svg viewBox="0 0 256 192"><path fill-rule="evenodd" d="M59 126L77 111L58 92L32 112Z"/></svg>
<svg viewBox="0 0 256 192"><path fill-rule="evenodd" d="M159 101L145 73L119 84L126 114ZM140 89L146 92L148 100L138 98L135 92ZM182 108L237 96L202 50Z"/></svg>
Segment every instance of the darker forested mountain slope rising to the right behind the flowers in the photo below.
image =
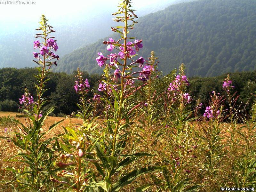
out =
<svg viewBox="0 0 256 192"><path fill-rule="evenodd" d="M188 76L255 70L255 13L254 0L198 0L175 4L140 17L130 36L143 39L140 55L144 58L150 51L156 52L158 69L164 74L181 63L185 63ZM90 73L102 72L95 58L97 52L109 54L102 44L107 39L64 56L56 71L70 73L80 67Z"/></svg>

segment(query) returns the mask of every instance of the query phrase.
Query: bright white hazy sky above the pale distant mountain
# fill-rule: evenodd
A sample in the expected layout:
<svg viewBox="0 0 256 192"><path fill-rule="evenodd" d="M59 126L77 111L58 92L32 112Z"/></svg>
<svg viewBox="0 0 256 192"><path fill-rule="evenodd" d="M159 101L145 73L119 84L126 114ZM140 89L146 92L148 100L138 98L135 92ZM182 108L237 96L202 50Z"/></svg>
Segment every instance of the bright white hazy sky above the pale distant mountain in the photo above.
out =
<svg viewBox="0 0 256 192"><path fill-rule="evenodd" d="M20 0L19 2L35 2L35 5L14 4L0 5L0 22L28 22L38 20L40 15L45 14L47 18L59 20L68 19L69 16L79 17L81 14L97 14L97 11L107 11L115 7L120 0ZM161 0L161 3L172 0ZM18 1L14 1L15 3ZM133 0L134 8L154 4L159 0ZM87 14L86 14L87 13Z"/></svg>

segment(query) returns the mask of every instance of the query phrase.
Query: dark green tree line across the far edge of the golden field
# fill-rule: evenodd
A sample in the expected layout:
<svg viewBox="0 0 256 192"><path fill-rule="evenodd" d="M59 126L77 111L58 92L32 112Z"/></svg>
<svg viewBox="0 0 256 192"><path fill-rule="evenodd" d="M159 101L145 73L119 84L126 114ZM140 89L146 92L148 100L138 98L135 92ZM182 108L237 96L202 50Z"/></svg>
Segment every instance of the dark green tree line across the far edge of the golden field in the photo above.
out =
<svg viewBox="0 0 256 192"><path fill-rule="evenodd" d="M37 72L36 68L0 69L0 111L17 111L20 106L19 98L25 88L28 88L32 95L36 95L33 82L36 80L34 75ZM75 71L72 74L66 74L64 72L51 72L49 74L49 81L46 84L46 88L49 90L45 92L44 97L50 98L45 106L45 110L55 107L54 114L51 115L65 116L78 110L76 103L79 102L79 95L74 90L75 75ZM191 93L193 99L192 106L195 107L198 100L208 103L212 91L225 94L222 90L222 83L226 76L227 74L215 77L189 78L190 86L188 87L188 92ZM84 78L88 79L92 88L92 91L88 94L88 99L92 99L94 93L101 94L98 91L98 81L101 75L84 72ZM237 105L244 102L243 107L248 112L255 98L252 95L256 92L256 71L231 73L230 78L235 85L233 92L240 94ZM160 75L157 81L166 84L166 87L169 85L168 82L164 82L162 75ZM136 83L140 83L140 81ZM164 90L156 89L156 91L163 92Z"/></svg>

